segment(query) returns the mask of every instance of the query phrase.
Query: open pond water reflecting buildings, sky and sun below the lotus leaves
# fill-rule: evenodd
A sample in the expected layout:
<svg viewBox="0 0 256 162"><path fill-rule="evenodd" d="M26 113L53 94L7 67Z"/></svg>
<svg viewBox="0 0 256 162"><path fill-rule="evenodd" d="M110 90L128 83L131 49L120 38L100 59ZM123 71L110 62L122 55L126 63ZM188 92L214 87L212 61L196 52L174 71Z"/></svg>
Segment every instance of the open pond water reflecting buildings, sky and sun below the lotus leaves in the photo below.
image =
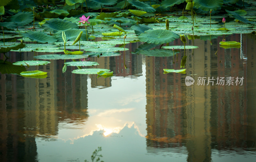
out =
<svg viewBox="0 0 256 162"><path fill-rule="evenodd" d="M125 46L127 69L124 52L90 58L100 65L88 68L114 72L108 78L71 73L76 66L62 73L64 60L30 67L47 72L45 79L1 74L0 161L90 161L98 147L100 159L112 162L254 161L256 37L225 37L239 49L221 48L223 38L196 39L186 74L163 73L180 69L184 50L173 64L173 57L131 54L141 42ZM16 62L34 52L6 55Z"/></svg>

